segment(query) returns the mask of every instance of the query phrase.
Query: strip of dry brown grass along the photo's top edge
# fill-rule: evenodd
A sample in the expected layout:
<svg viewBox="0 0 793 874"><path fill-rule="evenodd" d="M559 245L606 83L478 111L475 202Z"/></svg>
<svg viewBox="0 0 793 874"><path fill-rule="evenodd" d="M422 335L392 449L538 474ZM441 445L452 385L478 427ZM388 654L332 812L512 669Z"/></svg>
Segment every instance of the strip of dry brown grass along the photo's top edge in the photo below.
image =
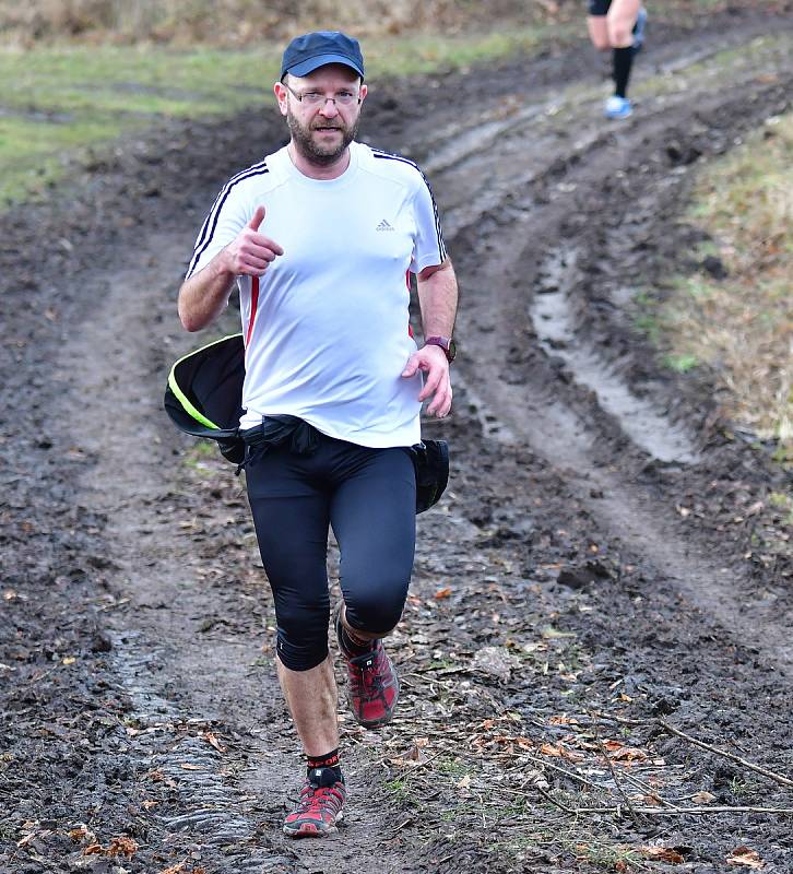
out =
<svg viewBox="0 0 793 874"><path fill-rule="evenodd" d="M496 20L531 24L572 13L576 0L0 0L0 34L5 42L169 45L250 45L312 28L348 28L360 36L449 32Z"/></svg>

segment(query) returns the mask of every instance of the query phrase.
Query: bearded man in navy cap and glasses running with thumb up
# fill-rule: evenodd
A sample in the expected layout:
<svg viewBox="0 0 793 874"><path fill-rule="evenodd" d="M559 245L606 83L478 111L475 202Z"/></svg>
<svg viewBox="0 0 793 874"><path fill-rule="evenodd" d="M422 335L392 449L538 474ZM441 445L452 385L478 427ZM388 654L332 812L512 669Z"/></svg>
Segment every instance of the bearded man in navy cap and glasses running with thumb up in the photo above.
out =
<svg viewBox="0 0 793 874"><path fill-rule="evenodd" d="M239 288L248 496L275 602L279 678L307 759L284 831L323 836L346 794L328 648L329 527L341 552L334 624L348 700L376 729L399 697L381 639L400 621L414 557L406 448L421 439L422 402L438 417L451 409L458 292L421 170L355 140L367 94L357 40L293 39L273 87L291 140L221 191L179 317L200 330ZM409 273L421 349L409 328Z"/></svg>

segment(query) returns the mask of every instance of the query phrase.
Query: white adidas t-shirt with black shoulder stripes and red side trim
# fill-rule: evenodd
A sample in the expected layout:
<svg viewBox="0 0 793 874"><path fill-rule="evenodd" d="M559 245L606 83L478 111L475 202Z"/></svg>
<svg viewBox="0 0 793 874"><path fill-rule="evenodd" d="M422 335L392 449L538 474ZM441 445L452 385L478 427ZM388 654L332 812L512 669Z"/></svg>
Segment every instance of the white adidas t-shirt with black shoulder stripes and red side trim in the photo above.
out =
<svg viewBox="0 0 793 874"><path fill-rule="evenodd" d="M259 280L238 276L246 342L244 428L299 416L359 446L419 440L421 373L400 376L410 334L407 272L446 257L438 212L413 162L353 142L336 179L304 176L286 149L218 194L187 273L236 238L257 206L284 249Z"/></svg>

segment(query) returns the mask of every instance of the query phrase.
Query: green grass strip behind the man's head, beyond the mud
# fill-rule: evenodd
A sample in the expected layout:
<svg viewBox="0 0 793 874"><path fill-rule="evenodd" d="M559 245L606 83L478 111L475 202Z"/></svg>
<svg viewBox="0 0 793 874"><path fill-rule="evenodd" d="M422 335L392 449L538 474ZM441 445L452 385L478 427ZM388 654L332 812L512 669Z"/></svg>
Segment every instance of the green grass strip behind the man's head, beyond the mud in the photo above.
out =
<svg viewBox="0 0 793 874"><path fill-rule="evenodd" d="M535 51L549 28L364 42L368 79L464 69ZM558 31L553 34L558 39ZM256 49L177 50L142 46L0 48L0 202L57 180L85 146L167 119L273 111L281 44ZM421 101L421 94L416 94Z"/></svg>

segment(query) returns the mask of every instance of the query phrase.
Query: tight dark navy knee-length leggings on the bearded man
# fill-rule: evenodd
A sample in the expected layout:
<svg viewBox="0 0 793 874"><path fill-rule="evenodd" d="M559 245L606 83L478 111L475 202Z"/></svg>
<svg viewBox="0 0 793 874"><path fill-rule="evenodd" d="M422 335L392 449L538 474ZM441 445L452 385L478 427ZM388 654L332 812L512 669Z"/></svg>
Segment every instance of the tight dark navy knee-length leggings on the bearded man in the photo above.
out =
<svg viewBox="0 0 793 874"><path fill-rule="evenodd" d="M246 469L259 551L275 601L276 652L293 671L328 656L328 533L354 629L387 634L407 597L415 551L416 479L401 448L370 449L320 435L310 456L288 445Z"/></svg>

